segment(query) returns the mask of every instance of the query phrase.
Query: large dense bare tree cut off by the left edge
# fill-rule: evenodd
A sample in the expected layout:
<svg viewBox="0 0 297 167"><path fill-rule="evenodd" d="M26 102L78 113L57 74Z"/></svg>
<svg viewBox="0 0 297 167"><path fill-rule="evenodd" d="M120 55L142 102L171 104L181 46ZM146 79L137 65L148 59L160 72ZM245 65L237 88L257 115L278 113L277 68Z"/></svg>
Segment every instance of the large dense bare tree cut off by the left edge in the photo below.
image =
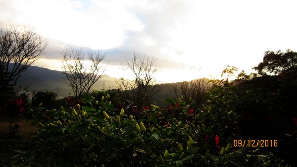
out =
<svg viewBox="0 0 297 167"><path fill-rule="evenodd" d="M0 25L0 87L14 86L28 67L42 55L47 42L28 27Z"/></svg>

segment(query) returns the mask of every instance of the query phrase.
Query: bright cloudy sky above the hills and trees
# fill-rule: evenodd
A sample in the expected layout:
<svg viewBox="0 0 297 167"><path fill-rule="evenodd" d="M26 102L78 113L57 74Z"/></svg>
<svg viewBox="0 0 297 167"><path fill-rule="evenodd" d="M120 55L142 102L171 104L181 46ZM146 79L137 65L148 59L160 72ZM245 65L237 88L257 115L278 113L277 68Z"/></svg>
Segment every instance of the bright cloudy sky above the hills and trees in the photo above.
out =
<svg viewBox="0 0 297 167"><path fill-rule="evenodd" d="M296 0L0 0L0 22L48 41L34 65L62 70L61 52L106 52L104 74L133 78L122 63L153 56L160 83L251 72L265 51L297 51ZM126 68L124 68L126 69Z"/></svg>

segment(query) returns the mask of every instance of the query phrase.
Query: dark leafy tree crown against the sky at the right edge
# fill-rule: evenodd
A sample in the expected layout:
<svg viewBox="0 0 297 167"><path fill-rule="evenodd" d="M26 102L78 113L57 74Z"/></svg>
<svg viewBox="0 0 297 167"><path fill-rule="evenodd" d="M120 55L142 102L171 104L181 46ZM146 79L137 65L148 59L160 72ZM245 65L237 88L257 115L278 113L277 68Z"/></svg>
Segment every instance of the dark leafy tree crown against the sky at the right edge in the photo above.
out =
<svg viewBox="0 0 297 167"><path fill-rule="evenodd" d="M286 53L266 51L263 61L253 67L261 75L278 75L289 69L297 68L297 52L287 50Z"/></svg>

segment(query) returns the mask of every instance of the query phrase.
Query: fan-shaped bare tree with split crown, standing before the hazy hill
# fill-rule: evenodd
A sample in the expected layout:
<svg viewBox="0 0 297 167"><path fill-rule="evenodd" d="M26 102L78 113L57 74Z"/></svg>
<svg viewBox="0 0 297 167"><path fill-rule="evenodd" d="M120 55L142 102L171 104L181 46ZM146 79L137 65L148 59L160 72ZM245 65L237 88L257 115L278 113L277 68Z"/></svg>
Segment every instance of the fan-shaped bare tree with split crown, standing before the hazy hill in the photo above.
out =
<svg viewBox="0 0 297 167"><path fill-rule="evenodd" d="M101 51L89 50L87 55L91 62L90 68L83 63L85 57L83 49L65 50L61 55L64 79L68 81L76 102L79 103L83 92L88 93L91 87L102 76L105 68L100 66L100 62L106 56L106 52L102 54Z"/></svg>

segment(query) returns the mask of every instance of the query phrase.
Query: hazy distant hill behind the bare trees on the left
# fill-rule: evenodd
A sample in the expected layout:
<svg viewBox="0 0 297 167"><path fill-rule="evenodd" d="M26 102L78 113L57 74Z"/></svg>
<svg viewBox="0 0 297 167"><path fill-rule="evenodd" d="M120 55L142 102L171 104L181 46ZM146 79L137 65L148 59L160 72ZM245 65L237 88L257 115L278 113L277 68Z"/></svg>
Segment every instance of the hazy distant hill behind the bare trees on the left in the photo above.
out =
<svg viewBox="0 0 297 167"><path fill-rule="evenodd" d="M61 71L50 70L38 66L30 66L25 72L26 74L18 79L17 87L30 87L28 91L51 91L58 94L59 97L68 96L72 93L71 88L63 79ZM102 75L101 78L93 85L91 91L103 89L103 82L105 89L114 88L116 78L108 75Z"/></svg>

